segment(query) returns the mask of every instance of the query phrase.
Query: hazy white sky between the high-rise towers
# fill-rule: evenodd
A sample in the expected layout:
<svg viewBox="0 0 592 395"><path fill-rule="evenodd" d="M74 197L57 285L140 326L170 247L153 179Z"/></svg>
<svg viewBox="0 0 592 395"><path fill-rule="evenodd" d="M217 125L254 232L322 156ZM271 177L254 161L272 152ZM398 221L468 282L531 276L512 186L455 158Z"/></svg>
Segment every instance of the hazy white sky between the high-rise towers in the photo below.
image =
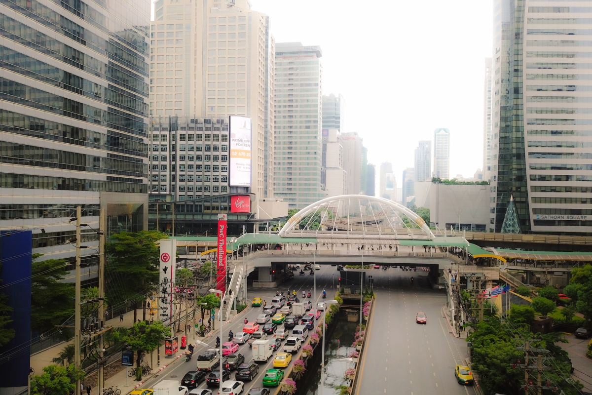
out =
<svg viewBox="0 0 592 395"><path fill-rule="evenodd" d="M321 46L323 94L345 97L345 129L361 134L377 173L389 160L400 187L437 127L451 131L451 176L482 167L491 0L250 1L276 43Z"/></svg>

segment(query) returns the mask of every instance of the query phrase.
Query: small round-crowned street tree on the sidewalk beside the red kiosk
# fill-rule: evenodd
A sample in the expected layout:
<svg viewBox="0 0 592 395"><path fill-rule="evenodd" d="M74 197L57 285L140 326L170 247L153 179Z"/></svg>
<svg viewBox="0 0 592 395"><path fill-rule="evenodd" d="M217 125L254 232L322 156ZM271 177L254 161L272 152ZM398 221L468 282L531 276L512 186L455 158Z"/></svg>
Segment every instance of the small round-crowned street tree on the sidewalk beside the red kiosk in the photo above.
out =
<svg viewBox="0 0 592 395"><path fill-rule="evenodd" d="M163 340L165 335L170 335L170 330L162 325L162 322L155 321L152 324L146 324L145 321L136 322L134 326L127 330L124 341L133 351L136 351L136 380L142 379L141 359L144 354L154 351Z"/></svg>

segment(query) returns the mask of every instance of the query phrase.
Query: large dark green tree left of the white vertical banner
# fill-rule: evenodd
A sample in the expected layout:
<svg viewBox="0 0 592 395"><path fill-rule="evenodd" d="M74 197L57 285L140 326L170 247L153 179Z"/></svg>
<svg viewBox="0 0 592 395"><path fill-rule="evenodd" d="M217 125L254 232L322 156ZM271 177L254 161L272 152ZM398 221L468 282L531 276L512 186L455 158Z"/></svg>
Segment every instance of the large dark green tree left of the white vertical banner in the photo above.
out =
<svg viewBox="0 0 592 395"><path fill-rule="evenodd" d="M144 300L144 294L159 280L160 248L156 242L166 239L156 230L121 232L105 245L109 253L105 268L107 299L111 306Z"/></svg>

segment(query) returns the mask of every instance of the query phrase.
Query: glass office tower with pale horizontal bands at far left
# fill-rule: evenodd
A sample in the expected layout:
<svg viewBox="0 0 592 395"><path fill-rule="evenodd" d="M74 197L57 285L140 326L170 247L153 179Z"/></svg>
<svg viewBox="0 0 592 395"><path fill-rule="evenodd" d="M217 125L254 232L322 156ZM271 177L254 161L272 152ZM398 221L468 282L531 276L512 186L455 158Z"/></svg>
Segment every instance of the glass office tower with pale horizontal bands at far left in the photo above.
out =
<svg viewBox="0 0 592 395"><path fill-rule="evenodd" d="M0 228L73 259L81 206L96 273L99 206L108 234L147 229L150 2L3 1L0 18Z"/></svg>

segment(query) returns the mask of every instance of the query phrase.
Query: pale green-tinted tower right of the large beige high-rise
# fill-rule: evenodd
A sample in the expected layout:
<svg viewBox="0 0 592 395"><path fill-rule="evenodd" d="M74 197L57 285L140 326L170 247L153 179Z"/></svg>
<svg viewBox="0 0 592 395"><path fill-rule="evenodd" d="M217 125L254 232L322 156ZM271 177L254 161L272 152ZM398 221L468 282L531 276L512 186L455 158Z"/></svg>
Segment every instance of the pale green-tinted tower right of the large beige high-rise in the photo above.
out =
<svg viewBox="0 0 592 395"><path fill-rule="evenodd" d="M322 72L318 46L275 44L274 197L303 208L321 189Z"/></svg>

